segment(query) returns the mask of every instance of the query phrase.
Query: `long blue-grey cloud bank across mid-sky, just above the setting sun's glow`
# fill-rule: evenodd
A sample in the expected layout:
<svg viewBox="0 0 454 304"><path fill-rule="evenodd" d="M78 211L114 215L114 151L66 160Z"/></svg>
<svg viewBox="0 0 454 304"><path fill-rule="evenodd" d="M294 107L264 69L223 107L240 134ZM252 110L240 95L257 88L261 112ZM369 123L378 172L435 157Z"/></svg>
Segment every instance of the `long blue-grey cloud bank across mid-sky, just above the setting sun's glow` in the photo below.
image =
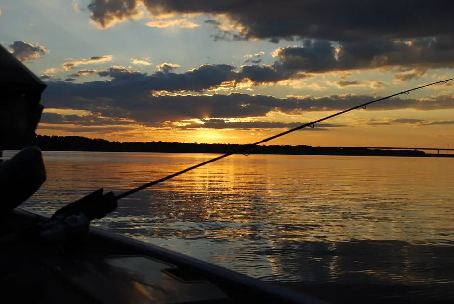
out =
<svg viewBox="0 0 454 304"><path fill-rule="evenodd" d="M148 75L121 67L101 71L85 70L83 73L92 73L91 71L100 76L111 77L111 80L84 83L49 82L42 98L43 104L50 108L88 110L100 113L103 117L132 119L147 126L156 126L166 121L187 119L264 117L273 111L290 115L340 111L376 98L349 94L317 98L294 96L283 99L240 93L182 93L167 96L152 94L153 90L203 91L224 81L241 79L248 73L246 70L235 72L228 65L203 65L180 74L156 72ZM454 108L452 95L419 99L404 95L371 105L367 110L448 108Z"/></svg>

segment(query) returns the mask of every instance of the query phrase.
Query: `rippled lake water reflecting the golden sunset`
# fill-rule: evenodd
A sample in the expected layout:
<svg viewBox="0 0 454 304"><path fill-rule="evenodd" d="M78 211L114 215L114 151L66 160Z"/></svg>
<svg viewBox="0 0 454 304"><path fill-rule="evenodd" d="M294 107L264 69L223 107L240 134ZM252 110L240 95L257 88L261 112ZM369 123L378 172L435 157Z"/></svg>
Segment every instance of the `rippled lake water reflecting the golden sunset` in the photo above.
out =
<svg viewBox="0 0 454 304"><path fill-rule="evenodd" d="M214 156L44 152L47 181L23 206L52 213ZM234 155L94 224L328 300L449 303L453 180L448 158Z"/></svg>

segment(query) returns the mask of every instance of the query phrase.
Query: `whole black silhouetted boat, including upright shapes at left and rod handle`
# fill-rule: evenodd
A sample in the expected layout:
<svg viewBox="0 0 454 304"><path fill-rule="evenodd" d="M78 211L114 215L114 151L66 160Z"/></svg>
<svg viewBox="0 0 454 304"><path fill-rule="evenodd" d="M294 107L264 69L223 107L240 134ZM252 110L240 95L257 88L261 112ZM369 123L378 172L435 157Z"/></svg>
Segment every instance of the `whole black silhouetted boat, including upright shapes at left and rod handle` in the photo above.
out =
<svg viewBox="0 0 454 304"><path fill-rule="evenodd" d="M41 118L46 84L0 45L0 150L26 143ZM46 179L41 151L21 150L0 167L0 302L324 303L98 228L115 210L111 192L93 192L52 217L20 204Z"/></svg>

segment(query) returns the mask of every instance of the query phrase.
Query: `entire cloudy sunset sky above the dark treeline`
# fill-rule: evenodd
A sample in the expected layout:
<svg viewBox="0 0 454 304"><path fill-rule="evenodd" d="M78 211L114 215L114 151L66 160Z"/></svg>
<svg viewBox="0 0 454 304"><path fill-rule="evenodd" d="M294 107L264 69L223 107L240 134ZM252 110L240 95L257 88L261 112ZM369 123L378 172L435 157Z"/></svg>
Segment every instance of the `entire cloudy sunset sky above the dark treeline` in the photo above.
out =
<svg viewBox="0 0 454 304"><path fill-rule="evenodd" d="M39 134L248 143L454 77L449 0L2 0ZM269 144L454 148L454 82Z"/></svg>

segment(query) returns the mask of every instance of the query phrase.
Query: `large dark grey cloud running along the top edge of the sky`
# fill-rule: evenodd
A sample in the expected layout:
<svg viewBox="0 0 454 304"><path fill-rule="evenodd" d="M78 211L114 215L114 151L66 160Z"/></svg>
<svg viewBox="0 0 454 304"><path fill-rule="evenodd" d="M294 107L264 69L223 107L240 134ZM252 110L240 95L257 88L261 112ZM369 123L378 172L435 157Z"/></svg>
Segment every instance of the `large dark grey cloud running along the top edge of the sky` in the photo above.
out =
<svg viewBox="0 0 454 304"><path fill-rule="evenodd" d="M373 37L412 38L452 34L450 0L92 0L90 18L102 27L140 15L167 13L227 16L241 39L293 36L333 41ZM220 28L221 20L208 21ZM229 34L224 31L224 34Z"/></svg>

